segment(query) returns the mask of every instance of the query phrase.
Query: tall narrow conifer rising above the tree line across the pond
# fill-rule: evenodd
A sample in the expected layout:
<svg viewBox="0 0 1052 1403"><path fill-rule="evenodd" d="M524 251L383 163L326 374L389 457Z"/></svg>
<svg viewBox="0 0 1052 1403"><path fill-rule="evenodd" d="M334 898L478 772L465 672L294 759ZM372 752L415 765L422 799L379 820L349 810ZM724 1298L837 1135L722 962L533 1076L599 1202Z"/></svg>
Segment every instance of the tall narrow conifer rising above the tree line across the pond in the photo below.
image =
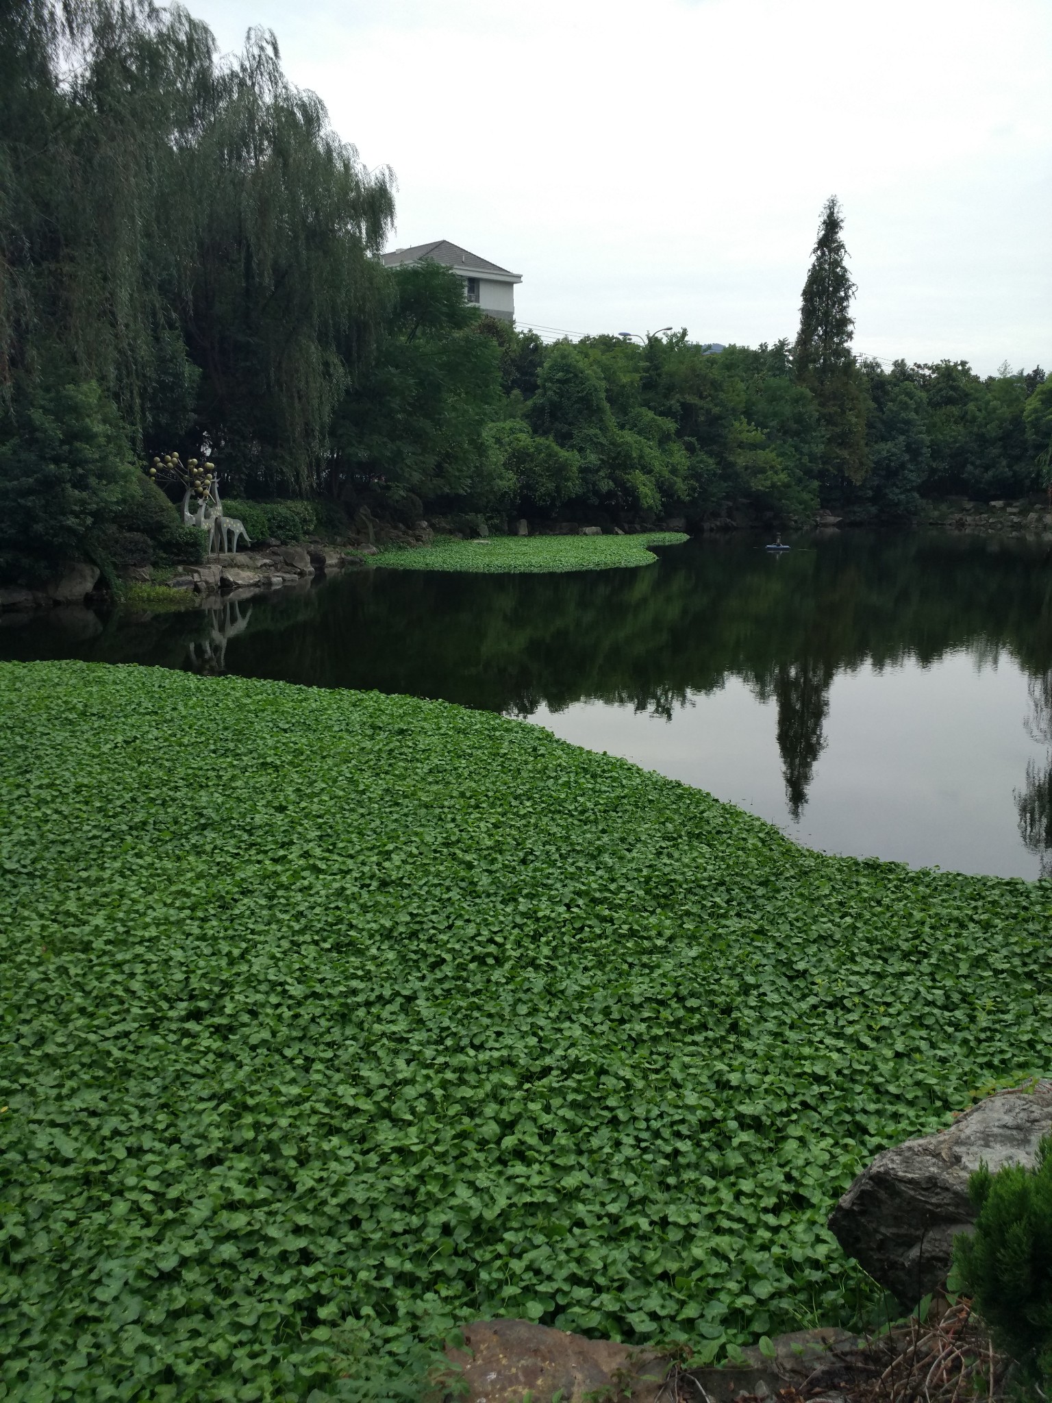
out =
<svg viewBox="0 0 1052 1403"><path fill-rule="evenodd" d="M818 401L825 429L826 481L861 481L867 471L865 390L851 352L851 297L843 213L836 195L822 209L822 224L800 300L800 333L793 359L797 379Z"/></svg>

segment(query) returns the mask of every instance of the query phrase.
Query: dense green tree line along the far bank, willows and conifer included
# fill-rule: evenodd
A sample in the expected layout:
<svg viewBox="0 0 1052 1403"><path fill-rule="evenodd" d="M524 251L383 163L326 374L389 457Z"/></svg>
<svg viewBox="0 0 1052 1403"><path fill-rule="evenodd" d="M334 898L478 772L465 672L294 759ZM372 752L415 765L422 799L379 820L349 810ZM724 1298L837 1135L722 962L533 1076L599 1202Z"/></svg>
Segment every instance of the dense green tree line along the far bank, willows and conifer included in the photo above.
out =
<svg viewBox="0 0 1052 1403"><path fill-rule="evenodd" d="M240 497L407 518L908 519L1052 471L1042 370L853 354L836 201L795 342L718 355L686 331L541 345L443 268L384 268L393 220L390 173L286 80L271 35L222 59L150 0L0 7L7 568L192 550L136 467L174 449Z"/></svg>

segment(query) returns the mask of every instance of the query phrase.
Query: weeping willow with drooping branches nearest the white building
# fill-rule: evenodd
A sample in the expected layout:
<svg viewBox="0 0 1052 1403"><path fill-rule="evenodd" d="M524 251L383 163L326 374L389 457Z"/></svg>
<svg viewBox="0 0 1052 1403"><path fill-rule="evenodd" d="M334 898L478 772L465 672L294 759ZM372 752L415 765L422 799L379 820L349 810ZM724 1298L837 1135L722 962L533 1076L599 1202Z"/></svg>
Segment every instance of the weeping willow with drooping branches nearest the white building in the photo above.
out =
<svg viewBox="0 0 1052 1403"><path fill-rule="evenodd" d="M372 255L394 217L391 175L362 168L261 31L215 77L194 175L184 331L199 424L227 471L307 491L389 311Z"/></svg>

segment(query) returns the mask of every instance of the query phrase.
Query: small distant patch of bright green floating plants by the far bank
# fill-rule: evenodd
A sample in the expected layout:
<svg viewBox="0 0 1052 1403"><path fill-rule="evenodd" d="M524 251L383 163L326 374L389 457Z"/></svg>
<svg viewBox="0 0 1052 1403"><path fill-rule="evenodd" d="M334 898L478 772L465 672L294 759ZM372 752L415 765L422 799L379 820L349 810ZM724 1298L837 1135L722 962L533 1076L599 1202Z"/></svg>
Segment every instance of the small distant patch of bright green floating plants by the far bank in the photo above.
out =
<svg viewBox="0 0 1052 1403"><path fill-rule="evenodd" d="M456 570L491 575L547 575L569 570L619 570L652 565L648 546L679 546L679 532L642 536L490 536L485 540L436 540L421 550L383 550L375 564L387 570Z"/></svg>

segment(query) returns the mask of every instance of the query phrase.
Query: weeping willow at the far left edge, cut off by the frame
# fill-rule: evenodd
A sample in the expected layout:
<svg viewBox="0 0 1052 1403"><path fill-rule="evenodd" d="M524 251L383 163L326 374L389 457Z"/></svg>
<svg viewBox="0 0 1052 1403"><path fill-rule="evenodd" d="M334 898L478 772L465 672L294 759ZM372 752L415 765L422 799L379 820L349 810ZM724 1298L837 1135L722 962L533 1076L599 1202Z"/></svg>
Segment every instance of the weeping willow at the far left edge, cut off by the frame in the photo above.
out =
<svg viewBox="0 0 1052 1403"><path fill-rule="evenodd" d="M4 383L59 361L142 431L178 328L173 203L212 35L181 10L84 0L27 0L0 22Z"/></svg>

